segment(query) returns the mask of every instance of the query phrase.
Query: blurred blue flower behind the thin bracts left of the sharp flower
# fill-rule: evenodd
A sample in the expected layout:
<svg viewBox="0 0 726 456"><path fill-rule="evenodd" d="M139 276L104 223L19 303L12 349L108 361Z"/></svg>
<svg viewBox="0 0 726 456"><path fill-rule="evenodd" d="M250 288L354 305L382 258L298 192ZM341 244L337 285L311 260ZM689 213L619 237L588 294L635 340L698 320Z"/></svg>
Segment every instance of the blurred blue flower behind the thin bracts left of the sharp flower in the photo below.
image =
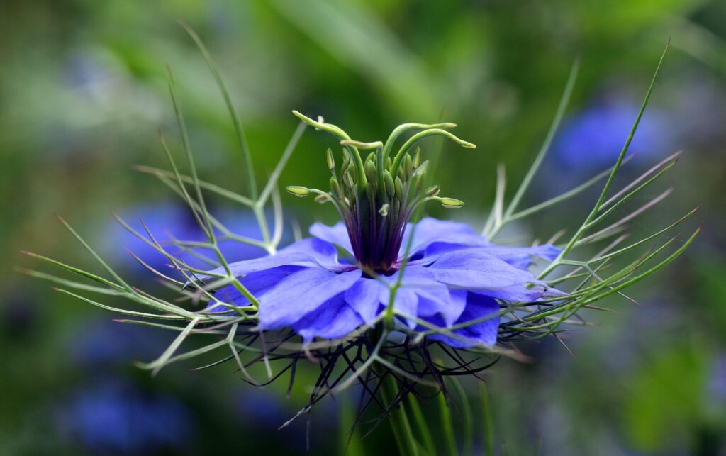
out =
<svg viewBox="0 0 726 456"><path fill-rule="evenodd" d="M224 208L220 211L212 211L212 215L236 235L250 237L256 240L262 239L257 220L248 211ZM144 226L139 219L143 220L155 239L163 245L171 240L206 240L203 231L200 229L189 208L176 202L140 205L122 213L121 219L136 229L137 232L146 235ZM165 256L155 251L116 221L109 224L106 232L105 239L107 243L105 245L105 251L108 256L115 259L115 263L126 266L130 265L134 267L134 271L136 272L148 272L144 266L128 255L126 252L126 249L128 249L152 268L164 274L171 271L167 266L169 261ZM283 237L284 242L285 237ZM202 269L208 268L209 266L205 262L195 258L191 253L181 251L181 249L173 245L166 244L164 246L168 253L183 259L190 266ZM257 258L258 256L266 254L263 248L233 240L223 240L219 243L219 247L228 261ZM213 253L208 249L197 249L196 252L208 258L214 258Z"/></svg>

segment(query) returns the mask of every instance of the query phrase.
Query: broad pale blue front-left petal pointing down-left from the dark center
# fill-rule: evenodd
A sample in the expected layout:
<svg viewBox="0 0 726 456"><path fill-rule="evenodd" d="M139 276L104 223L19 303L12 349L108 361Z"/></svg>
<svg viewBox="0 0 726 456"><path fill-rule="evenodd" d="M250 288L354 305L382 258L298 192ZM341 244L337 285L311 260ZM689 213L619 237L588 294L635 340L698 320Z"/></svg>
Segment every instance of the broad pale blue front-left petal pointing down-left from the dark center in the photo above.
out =
<svg viewBox="0 0 726 456"><path fill-rule="evenodd" d="M351 288L360 277L359 269L334 274L322 268L306 268L290 274L261 299L260 328L280 329L295 324L325 301Z"/></svg>

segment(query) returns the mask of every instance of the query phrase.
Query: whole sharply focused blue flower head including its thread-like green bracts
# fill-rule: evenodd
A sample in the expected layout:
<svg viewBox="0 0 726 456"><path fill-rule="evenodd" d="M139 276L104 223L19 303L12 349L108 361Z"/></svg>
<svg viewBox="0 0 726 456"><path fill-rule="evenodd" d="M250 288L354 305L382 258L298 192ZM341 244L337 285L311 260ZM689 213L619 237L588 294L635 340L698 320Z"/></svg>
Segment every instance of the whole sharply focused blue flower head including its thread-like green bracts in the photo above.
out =
<svg viewBox="0 0 726 456"><path fill-rule="evenodd" d="M674 154L661 160L613 192L614 179L643 117L663 57L611 169L561 195L529 208L520 208L523 195L533 182L563 117L578 71L578 65L573 65L550 133L508 203L505 201L505 172L499 167L494 205L478 235L467 225L452 221L423 218L415 223L424 203L436 201L444 208L452 209L463 205L460 200L439 196L439 187L425 182L428 161L421 160L417 147L425 138L441 136L473 148L473 144L448 131L454 127L452 123L406 123L396 127L386 142L359 142L322 118L315 121L295 112L302 123L282 152L269 180L264 187L258 187L250 150L229 102L227 89L199 38L193 31L189 30L189 33L202 49L228 103L245 159L248 196L205 182L198 176L171 75L169 89L189 174L179 171L163 136L162 146L172 171L154 168L150 172L187 203L205 238L192 243L172 241L171 245L204 249L213 256L213 265L200 269L188 264L183 258L167 252L150 232L144 235L122 219L118 220L123 227L161 253L184 277L184 280L177 280L155 271L161 282L181 296L170 300L130 285L62 219L83 248L99 261L108 278L28 253L94 282L89 285L28 271L28 274L57 283L62 287L58 289L61 293L125 314L130 317L127 322L174 331L176 337L163 354L141 365L152 372L158 372L172 362L219 349L226 350L227 356L204 367L233 360L250 383L261 384L250 375L247 367L263 361L269 382L289 371L291 387L295 366L307 358L319 365L320 374L308 405L295 416L308 412L327 394L359 382L363 386L361 411L375 399L383 410L383 419L397 404L402 404L407 394L417 393L417 383L428 383L446 394L444 377L476 375L486 370L492 362L486 360L489 358L486 354L480 356L483 351L516 357L518 353L507 347L510 343L550 335L564 345L559 334L560 325L586 323L577 313L579 310L597 309L593 304L600 299L622 293L657 272L685 251L698 235L699 229L696 229L674 252L658 261L653 258L674 239L656 245L651 253L639 256L635 261L625 261L627 266L623 268L609 267L617 258L634 252L645 243L660 244L658 240L664 233L695 212L690 211L668 227L627 245L623 244L628 237L622 235L627 229L626 222L666 198L669 192L622 219L613 221L611 217L635 195L650 188L678 158L678 154ZM314 224L310 229L312 237L278 250L282 240L283 211L277 184L306 125L333 134L343 148L342 160L336 166L333 151L327 151L330 190L290 186L287 191L299 197L315 195L318 203L330 203L341 221L333 227ZM399 147L396 143L403 137L406 139ZM397 150L393 149L394 145ZM605 183L592 210L562 243L561 250L549 244L535 247L494 244L493 240L510 222L579 195L601 180ZM227 261L220 242L229 238L230 233L209 212L208 196L212 195L253 212L262 239L239 237L238 240L264 248L268 256ZM269 202L272 202L272 226L265 216ZM617 236L615 240L614 236ZM573 252L580 247L603 241L607 244L597 248L599 253L595 256L573 258ZM529 271L535 257L547 260L536 276ZM554 287L571 291L563 293ZM96 301L97 298L84 296L86 293L123 297L135 306L134 309L108 306ZM204 306L196 306L200 303ZM139 311L138 305L147 308L146 312ZM268 331L274 332L274 336L266 335ZM209 342L200 348L180 352L184 341L197 334L204 334ZM295 343L298 338L302 339L302 345ZM277 366L277 362L283 362L284 366L275 373L273 365ZM404 429L399 431L406 432ZM401 439L409 443L413 440L411 435Z"/></svg>

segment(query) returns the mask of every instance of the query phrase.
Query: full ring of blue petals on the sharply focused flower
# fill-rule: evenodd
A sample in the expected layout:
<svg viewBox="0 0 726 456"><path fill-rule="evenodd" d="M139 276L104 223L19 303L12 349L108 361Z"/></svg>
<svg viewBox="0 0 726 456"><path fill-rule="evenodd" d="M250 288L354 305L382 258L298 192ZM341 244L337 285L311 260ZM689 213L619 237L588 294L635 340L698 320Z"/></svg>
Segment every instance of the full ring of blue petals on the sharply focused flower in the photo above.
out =
<svg viewBox="0 0 726 456"><path fill-rule="evenodd" d="M438 327L481 319L454 330L456 338L431 337L450 346L492 346L499 326L497 299L531 302L542 298L547 288L526 269L534 256L551 260L559 253L552 245L494 245L465 224L426 218L415 229L407 227L401 236L408 241L412 232L409 256L404 256L407 243L395 243L399 245L395 261L373 277L354 255L343 222L333 227L316 223L310 232L314 237L276 255L229 265L260 301L259 328L292 327L306 343L316 337L340 338L372 324L388 306L390 290L385 282L396 282L403 274L393 301L396 312L403 315L401 325L425 330L415 319ZM339 258L336 245L358 261ZM235 306L249 305L232 285L217 290L216 298ZM216 306L212 310L227 309Z"/></svg>

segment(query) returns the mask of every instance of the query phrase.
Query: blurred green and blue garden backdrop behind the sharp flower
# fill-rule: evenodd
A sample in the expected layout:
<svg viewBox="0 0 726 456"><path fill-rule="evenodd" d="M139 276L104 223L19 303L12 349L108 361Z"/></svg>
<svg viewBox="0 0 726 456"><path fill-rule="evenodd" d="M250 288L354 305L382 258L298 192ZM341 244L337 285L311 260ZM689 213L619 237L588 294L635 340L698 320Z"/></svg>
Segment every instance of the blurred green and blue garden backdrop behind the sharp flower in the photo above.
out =
<svg viewBox="0 0 726 456"><path fill-rule="evenodd" d="M430 213L476 226L492 201L497 163L513 183L526 172L576 57L582 70L566 120L527 203L616 158L672 37L626 174L677 150L683 155L635 205L667 187L673 194L632 229L647 235L702 205L679 228L688 235L703 221L702 235L632 291L639 304L613 297L605 306L617 313L587 315L597 326L566 335L574 356L556 341L524 344L533 362L503 360L485 378L497 453L726 454L726 3L717 0L1 1L2 454L294 454L306 447L304 419L276 431L305 404L304 377L289 398L285 380L253 388L231 365L191 372L195 365L182 363L151 378L132 362L157 356L168 334L115 323L115 315L15 270L40 266L22 249L97 267L54 211L142 284L149 275L126 253L141 247L110 212L142 216L178 236L192 229L174 195L132 169L164 166L156 129L179 144L166 64L200 173L245 191L232 124L180 19L219 64L259 179L295 129L292 109L325 115L361 140L383 139L404 121L445 119L478 149L444 146L436 179L467 206ZM324 185L329 145L327 136L306 131L281 183ZM283 198L302 227L335 221L329 207ZM511 236L547 239L572 228L589 204L592 195L584 195ZM219 210L240 230L252 229L241 208ZM481 449L473 386L465 383ZM340 452L352 413L346 404L342 397L313 410L311 454ZM436 428L436 408L425 410ZM460 410L452 413L461 419ZM351 454L393 450L383 427L346 447Z"/></svg>

